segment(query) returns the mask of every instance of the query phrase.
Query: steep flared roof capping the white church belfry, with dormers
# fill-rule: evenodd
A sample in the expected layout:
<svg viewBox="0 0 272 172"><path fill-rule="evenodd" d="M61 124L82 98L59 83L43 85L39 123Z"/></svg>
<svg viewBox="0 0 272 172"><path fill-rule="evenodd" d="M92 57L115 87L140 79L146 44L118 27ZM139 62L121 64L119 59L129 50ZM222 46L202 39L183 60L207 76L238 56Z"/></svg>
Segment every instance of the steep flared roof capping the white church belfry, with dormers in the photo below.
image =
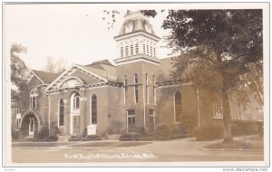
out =
<svg viewBox="0 0 272 172"><path fill-rule="evenodd" d="M125 27L128 24L132 24L132 31L130 33L125 33ZM158 37L152 27L151 27L151 32L148 32L146 30L145 25L151 25L151 23L149 22L148 17L143 15L141 12L126 14L124 15L124 22L121 25L120 32L114 38L121 37L126 34L137 33L137 32L144 32L144 33L151 34L152 36Z"/></svg>

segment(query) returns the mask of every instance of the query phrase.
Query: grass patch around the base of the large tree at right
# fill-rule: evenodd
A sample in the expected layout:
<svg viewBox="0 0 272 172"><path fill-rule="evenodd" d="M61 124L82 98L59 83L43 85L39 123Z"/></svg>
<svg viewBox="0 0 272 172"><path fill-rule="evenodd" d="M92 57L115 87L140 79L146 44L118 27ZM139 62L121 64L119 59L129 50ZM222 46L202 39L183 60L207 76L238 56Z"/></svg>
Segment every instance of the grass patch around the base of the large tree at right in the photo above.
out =
<svg viewBox="0 0 272 172"><path fill-rule="evenodd" d="M264 141L263 137L256 136L252 138L234 140L229 143L215 143L204 148L263 149Z"/></svg>

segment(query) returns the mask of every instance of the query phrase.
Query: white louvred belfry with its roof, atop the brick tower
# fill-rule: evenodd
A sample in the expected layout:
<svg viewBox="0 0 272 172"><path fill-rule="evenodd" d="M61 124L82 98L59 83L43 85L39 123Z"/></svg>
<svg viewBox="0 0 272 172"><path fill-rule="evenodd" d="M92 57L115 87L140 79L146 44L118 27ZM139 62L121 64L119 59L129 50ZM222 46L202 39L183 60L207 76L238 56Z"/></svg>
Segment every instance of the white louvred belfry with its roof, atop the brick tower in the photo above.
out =
<svg viewBox="0 0 272 172"><path fill-rule="evenodd" d="M117 36L114 37L118 47L117 65L135 61L160 63L157 58L157 43L160 37L154 33L149 19L141 12L124 15L124 22Z"/></svg>

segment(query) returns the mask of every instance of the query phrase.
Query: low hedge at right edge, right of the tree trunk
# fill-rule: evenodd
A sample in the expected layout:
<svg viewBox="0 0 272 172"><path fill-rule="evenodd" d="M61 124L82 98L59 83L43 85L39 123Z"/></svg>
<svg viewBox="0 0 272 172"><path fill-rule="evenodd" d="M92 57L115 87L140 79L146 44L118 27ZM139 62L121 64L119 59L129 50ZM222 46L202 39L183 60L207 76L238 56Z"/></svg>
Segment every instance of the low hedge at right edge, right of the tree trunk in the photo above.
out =
<svg viewBox="0 0 272 172"><path fill-rule="evenodd" d="M261 134L262 126L263 122L260 121L234 120L231 123L231 131L233 136Z"/></svg>

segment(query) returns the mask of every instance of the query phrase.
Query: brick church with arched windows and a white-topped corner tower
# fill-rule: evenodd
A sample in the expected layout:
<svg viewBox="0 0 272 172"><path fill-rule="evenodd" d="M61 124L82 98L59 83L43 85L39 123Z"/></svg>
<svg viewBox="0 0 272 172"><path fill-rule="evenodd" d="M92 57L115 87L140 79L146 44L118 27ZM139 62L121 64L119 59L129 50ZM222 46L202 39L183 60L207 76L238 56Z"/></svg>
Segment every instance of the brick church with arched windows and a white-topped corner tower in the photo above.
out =
<svg viewBox="0 0 272 172"><path fill-rule="evenodd" d="M119 57L87 65L73 64L62 73L32 70L24 105L13 116L13 129L34 135L56 125L64 136L119 134L179 126L182 115L195 125L222 124L219 99L203 100L189 83L170 77L172 60L156 56L160 38L147 16L126 14L114 37ZM205 104L206 103L206 104Z"/></svg>

